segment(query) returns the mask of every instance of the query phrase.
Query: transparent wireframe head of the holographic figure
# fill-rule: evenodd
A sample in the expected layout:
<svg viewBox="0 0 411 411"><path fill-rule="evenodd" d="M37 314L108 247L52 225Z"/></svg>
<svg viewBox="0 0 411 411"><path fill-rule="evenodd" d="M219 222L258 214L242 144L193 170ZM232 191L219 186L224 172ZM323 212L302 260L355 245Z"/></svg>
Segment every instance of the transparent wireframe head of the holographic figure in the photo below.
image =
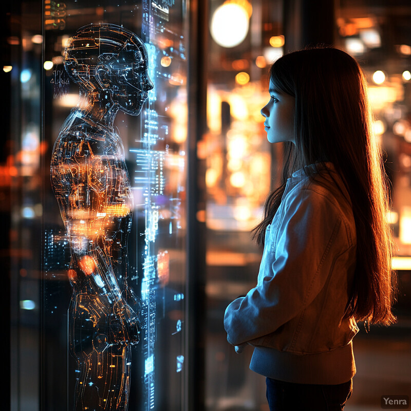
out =
<svg viewBox="0 0 411 411"><path fill-rule="evenodd" d="M132 31L115 24L90 24L68 40L64 67L86 92L109 91L120 109L138 115L153 88L147 50Z"/></svg>

